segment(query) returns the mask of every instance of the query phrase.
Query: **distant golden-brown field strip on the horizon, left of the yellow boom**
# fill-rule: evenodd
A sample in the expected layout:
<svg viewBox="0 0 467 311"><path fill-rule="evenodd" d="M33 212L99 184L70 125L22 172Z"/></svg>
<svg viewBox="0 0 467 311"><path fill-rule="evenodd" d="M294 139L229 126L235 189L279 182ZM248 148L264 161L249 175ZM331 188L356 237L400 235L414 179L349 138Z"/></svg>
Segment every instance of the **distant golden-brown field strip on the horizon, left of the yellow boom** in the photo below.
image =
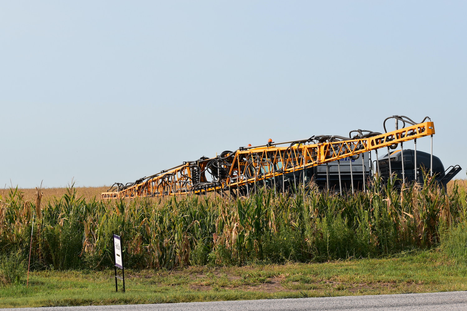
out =
<svg viewBox="0 0 467 311"><path fill-rule="evenodd" d="M100 200L100 194L102 192L106 192L109 187L75 187L77 191L77 196L84 197L86 199L92 199L96 197L96 199ZM18 188L18 190L22 193L23 198L25 200L32 200L34 201L36 190L34 188ZM2 188L0 189L0 195L5 197L10 192L9 188ZM42 188L42 200L49 201L53 198L60 198L66 193L65 188Z"/></svg>

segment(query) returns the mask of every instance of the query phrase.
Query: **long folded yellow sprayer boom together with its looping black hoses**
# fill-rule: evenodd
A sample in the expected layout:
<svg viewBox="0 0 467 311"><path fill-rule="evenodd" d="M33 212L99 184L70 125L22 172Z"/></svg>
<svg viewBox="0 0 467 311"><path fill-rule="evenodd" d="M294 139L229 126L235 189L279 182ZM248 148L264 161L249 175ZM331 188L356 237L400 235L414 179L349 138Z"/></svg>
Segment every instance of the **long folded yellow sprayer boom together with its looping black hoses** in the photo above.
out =
<svg viewBox="0 0 467 311"><path fill-rule="evenodd" d="M245 187L248 191L248 186L258 181L276 182L276 177L284 174L355 157L383 147L394 149L399 143L435 133L433 122L425 122L429 120L428 117L422 123L415 123L404 116L386 118L385 131L386 121L391 118L396 120L394 131L379 133L355 130L349 133L348 138L322 135L277 144L269 139L267 145L240 147L234 152L222 152L215 158L202 157L196 161L187 161L127 185L115 183L113 191L102 193L102 198L205 194ZM401 129L398 129L398 122L402 122ZM352 133L356 135L351 138ZM212 176L212 181L207 180L206 173Z"/></svg>

